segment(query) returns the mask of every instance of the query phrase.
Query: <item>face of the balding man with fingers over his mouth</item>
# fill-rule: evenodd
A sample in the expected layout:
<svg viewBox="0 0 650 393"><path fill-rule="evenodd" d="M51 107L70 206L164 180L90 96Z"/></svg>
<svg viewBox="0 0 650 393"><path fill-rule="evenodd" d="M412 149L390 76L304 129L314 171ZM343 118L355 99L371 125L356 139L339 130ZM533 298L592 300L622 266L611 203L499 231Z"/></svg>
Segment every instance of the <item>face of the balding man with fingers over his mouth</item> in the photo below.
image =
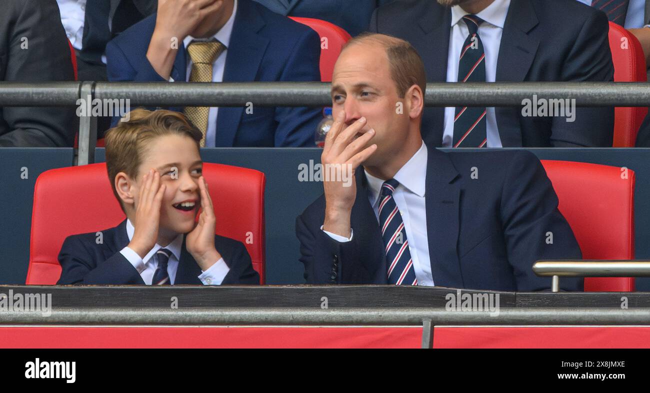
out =
<svg viewBox="0 0 650 393"><path fill-rule="evenodd" d="M409 116L404 98L397 95L386 51L381 45L354 44L341 53L334 66L331 97L334 118L344 111L345 125L349 126L365 117L367 124L362 132L371 128L376 132L368 146L376 144L377 150L364 165L381 164L400 151Z"/></svg>

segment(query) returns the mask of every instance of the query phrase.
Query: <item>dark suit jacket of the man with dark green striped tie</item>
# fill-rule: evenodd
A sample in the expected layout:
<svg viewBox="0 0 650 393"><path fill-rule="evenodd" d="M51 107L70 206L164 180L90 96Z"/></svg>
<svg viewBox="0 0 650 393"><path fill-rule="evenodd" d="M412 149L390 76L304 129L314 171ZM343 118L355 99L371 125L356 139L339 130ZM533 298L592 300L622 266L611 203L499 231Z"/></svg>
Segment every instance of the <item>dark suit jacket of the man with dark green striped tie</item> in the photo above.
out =
<svg viewBox="0 0 650 393"><path fill-rule="evenodd" d="M450 26L450 8L432 0L409 0L378 8L369 30L410 42L422 57L427 81L445 82ZM605 14L578 1L512 0L501 36L496 81L613 81L608 31ZM495 108L501 144L612 147L614 108L575 110L575 121L569 123L559 116L525 117L521 107ZM442 145L444 118L445 108L424 109L422 138L428 146Z"/></svg>

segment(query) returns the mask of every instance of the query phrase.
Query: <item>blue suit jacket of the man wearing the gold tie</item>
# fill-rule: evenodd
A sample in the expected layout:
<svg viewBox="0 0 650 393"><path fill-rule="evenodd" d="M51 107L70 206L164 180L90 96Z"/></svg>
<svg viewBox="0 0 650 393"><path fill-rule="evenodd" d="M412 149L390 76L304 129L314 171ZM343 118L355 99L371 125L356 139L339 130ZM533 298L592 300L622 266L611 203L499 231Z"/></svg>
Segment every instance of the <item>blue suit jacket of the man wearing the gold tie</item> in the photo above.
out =
<svg viewBox="0 0 650 393"><path fill-rule="evenodd" d="M320 38L309 27L252 0L238 0L224 82L320 81ZM109 81L166 82L147 60L156 14L111 40L106 47ZM181 49L182 47L182 49ZM187 81L188 55L179 42L172 78ZM216 147L314 147L322 108L221 107ZM171 108L182 111L183 108ZM114 124L117 119L114 119Z"/></svg>

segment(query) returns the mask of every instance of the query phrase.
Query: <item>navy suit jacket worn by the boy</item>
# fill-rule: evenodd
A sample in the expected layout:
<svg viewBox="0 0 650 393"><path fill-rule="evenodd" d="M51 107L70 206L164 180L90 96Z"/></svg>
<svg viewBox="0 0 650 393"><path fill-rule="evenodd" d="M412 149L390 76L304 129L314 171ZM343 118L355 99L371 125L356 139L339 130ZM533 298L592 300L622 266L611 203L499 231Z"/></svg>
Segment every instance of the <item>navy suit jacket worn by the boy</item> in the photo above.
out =
<svg viewBox="0 0 650 393"><path fill-rule="evenodd" d="M68 236L59 253L61 277L57 284L84 285L145 285L140 273L120 250L129 244L126 220L120 225L101 231L103 242L97 244L96 233ZM246 247L237 240L214 236L214 247L221 254L230 271L224 277L224 284L259 284L259 275L253 270ZM201 268L185 247L185 236L181 247L181 260L174 285L203 285L198 276Z"/></svg>

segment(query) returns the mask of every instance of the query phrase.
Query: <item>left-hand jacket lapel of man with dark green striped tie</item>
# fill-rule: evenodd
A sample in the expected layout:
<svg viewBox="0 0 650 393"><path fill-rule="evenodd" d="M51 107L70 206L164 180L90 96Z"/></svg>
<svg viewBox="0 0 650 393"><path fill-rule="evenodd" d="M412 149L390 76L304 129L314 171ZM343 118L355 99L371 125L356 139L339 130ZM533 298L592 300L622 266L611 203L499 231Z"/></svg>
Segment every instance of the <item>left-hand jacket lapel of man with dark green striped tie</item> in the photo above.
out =
<svg viewBox="0 0 650 393"><path fill-rule="evenodd" d="M439 8L436 10L435 7ZM447 81L447 57L449 53L449 34L451 31L451 9L430 2L430 7L419 21L423 34L418 42L423 42L419 53L426 67L426 80L428 82ZM442 61L441 61L442 60ZM442 143L443 120L445 119L445 108L431 107L428 111L432 113L433 140Z"/></svg>

